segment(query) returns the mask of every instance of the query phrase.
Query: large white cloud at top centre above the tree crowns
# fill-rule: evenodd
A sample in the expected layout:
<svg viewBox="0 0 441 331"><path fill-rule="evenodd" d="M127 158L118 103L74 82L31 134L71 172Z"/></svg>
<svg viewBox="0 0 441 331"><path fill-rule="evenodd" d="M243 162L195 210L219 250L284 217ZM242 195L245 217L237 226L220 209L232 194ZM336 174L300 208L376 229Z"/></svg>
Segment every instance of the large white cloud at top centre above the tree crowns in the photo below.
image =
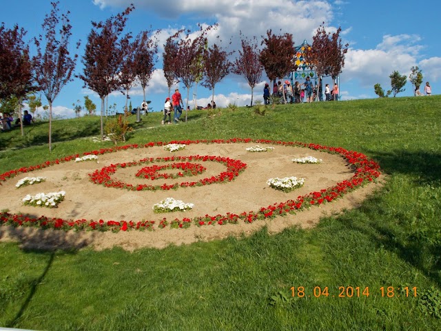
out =
<svg viewBox="0 0 441 331"><path fill-rule="evenodd" d="M299 45L304 39L310 40L317 27L323 21L331 21L332 17L331 4L324 0L94 0L94 4L101 8L125 8L130 3L134 3L136 9L148 9L163 17L176 18L192 14L193 17L203 17L199 23L204 23L203 20L216 21L219 28L212 37L219 35L224 41L231 36L238 36L239 31L247 37L260 37L268 29L272 29L274 33L281 29L283 33L293 33L294 41ZM170 32L167 31L160 37L161 47ZM237 45L239 42L234 40ZM232 48L237 49L237 45L232 45Z"/></svg>

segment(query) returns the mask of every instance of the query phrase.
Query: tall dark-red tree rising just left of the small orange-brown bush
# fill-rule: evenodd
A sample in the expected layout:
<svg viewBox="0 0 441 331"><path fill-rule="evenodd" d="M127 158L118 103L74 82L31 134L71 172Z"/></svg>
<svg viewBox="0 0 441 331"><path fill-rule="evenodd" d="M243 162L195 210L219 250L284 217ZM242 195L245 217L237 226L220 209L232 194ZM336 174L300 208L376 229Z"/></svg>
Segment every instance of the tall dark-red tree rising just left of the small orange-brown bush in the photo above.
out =
<svg viewBox="0 0 441 331"><path fill-rule="evenodd" d="M131 34L121 37L127 22L127 15L134 6L111 16L105 22L92 22L92 31L88 35L82 63L83 74L79 75L85 87L96 92L101 99L101 138L104 138L103 114L105 97L121 87L121 72L125 57L124 47L129 43Z"/></svg>

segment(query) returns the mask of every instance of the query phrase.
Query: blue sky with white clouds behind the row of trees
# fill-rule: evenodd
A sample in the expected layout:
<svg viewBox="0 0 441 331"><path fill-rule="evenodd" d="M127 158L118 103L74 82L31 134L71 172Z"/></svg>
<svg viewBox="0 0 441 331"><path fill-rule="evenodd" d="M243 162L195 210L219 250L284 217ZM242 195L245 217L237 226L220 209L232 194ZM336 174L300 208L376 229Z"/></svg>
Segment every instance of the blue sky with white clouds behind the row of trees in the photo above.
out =
<svg viewBox="0 0 441 331"><path fill-rule="evenodd" d="M135 10L129 15L125 32L136 36L142 30L160 30L157 34L158 61L146 90L146 99L152 101L150 107L153 111L161 111L168 96L162 70L165 40L180 28L196 31L198 23L218 23L218 28L208 36L209 43L220 40L224 48L236 50L232 59L238 55L240 32L249 38L257 37L259 42L269 29L276 34L288 32L293 34L294 46L299 46L304 40L312 43L312 37L323 23L327 32L335 32L341 27L342 42L349 43L345 66L340 74L342 101L376 98L373 92L376 83L380 83L384 90L389 90L389 75L397 70L409 77L412 66L422 70L423 85L429 81L433 94L439 94L441 90L440 28L436 26L441 1L438 0L419 4L409 0L60 0L61 12L70 12L71 52L79 54L76 74L83 72L81 57L92 30L91 22L105 21L122 12L130 3L134 4ZM45 14L52 8L50 1L0 0L0 4L0 21L7 28L18 24L27 30L25 41L30 42L31 53L34 52L32 39L43 33L41 24ZM81 46L75 50L74 45L78 40L81 40ZM265 81L268 78L264 71L262 81L254 88L254 100L263 99ZM324 79L324 83L331 84L331 79ZM176 87L180 88L185 99L185 86L181 83ZM404 88L405 91L397 97L413 95L409 80ZM205 106L211 100L212 91L198 86L196 90L192 88L189 95L192 101L190 106L194 106L194 98L198 106ZM89 96L99 110L101 101L98 95L85 88L81 79L75 78L54 100L53 114L59 118L74 117L73 104L83 105L85 96ZM44 95L41 99L43 105L47 104ZM143 91L140 86L130 90L130 100L133 107L141 105ZM229 74L216 85L214 100L220 107L229 103L245 106L251 101L251 88L245 78ZM116 110L122 112L125 97L121 92L113 92L108 104L116 104Z"/></svg>

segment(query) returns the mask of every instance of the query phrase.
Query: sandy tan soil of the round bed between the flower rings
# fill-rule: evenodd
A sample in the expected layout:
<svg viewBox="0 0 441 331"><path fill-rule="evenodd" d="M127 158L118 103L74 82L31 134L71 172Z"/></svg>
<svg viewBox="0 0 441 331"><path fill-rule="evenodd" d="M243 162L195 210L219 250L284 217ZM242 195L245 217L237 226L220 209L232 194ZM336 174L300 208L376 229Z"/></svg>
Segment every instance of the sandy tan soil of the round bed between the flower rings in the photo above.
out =
<svg viewBox="0 0 441 331"><path fill-rule="evenodd" d="M312 191L328 188L335 183L352 177L353 172L347 167L344 159L338 155L309 150L307 148L294 148L289 146L274 146L271 152L247 152L245 148L255 146L255 143L231 143L231 144L194 144L185 150L170 153L161 147L140 148L125 150L99 156L96 161L74 163L74 161L52 166L36 172L21 174L10 179L0 186L0 208L8 208L13 213L25 213L39 217L44 214L48 217L60 217L63 219L103 219L114 221L158 221L167 217L171 221L174 218L204 216L205 214L216 215L232 212L249 212L267 207L273 203L296 199L299 195ZM266 146L266 145L265 145ZM247 163L247 169L229 183L214 183L194 188L178 188L178 190L156 192L151 191L128 191L116 188L105 188L96 185L89 180L89 175L96 169L112 163L138 161L146 157L169 157L171 155L214 155L238 159ZM297 164L291 159L294 157L313 156L322 159L320 164ZM151 183L161 185L163 183L175 183L181 181L197 181L225 171L225 165L214 161L195 161L203 165L207 170L203 174L183 179L139 179L134 176L146 165L124 168L118 170L113 179L125 183ZM158 165L167 163L155 163ZM165 170L172 173L176 170ZM44 183L28 185L16 188L15 184L23 177L43 176L47 180ZM271 177L303 177L305 185L293 192L285 193L269 188L266 184ZM381 180L380 180L381 182ZM356 208L369 194L378 188L371 184L347 194L344 199L333 203L327 203L320 207L310 208L295 215L277 217L267 221L256 221L252 224L239 223L232 225L214 225L198 228L192 225L187 229L157 229L153 231L130 231L130 232L63 232L57 230L39 230L34 228L11 228L0 227L0 241L20 241L24 248L83 248L92 245L96 250L112 248L114 245L121 246L125 250L153 247L164 248L170 244L188 244L194 241L209 241L223 239L230 235L249 235L256 230L267 226L270 233L277 233L283 229L298 225L302 228L314 226L320 217L326 214L336 214L348 208ZM26 194L39 192L66 192L65 201L58 208L36 208L24 206L21 199ZM158 203L166 197L173 197L185 203L194 203L194 208L187 212L173 212L167 214L155 214L152 210L154 203ZM6 205L5 205L6 202Z"/></svg>

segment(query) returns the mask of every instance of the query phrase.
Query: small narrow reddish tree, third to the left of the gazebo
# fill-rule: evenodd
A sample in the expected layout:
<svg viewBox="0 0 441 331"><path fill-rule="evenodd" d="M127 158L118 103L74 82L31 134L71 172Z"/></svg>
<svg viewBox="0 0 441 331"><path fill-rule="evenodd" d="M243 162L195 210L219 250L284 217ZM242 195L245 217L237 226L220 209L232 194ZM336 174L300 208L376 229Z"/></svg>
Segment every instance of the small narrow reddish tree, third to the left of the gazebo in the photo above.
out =
<svg viewBox="0 0 441 331"><path fill-rule="evenodd" d="M216 43L203 53L203 72L205 79L202 86L213 91L212 104L214 101L214 88L216 83L222 81L222 79L229 74L232 63L228 60L228 57L231 54L232 52L223 50L223 48L217 46Z"/></svg>

